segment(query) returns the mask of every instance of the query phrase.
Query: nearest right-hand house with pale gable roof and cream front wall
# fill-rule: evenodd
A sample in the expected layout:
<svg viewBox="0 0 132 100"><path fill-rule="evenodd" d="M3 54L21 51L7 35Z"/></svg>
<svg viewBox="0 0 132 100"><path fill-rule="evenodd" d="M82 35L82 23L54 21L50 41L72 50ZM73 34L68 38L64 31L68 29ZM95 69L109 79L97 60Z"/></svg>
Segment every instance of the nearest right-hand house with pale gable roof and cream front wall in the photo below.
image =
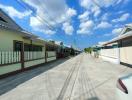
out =
<svg viewBox="0 0 132 100"><path fill-rule="evenodd" d="M121 34L108 43L118 42L120 64L132 66L132 24L127 24Z"/></svg>

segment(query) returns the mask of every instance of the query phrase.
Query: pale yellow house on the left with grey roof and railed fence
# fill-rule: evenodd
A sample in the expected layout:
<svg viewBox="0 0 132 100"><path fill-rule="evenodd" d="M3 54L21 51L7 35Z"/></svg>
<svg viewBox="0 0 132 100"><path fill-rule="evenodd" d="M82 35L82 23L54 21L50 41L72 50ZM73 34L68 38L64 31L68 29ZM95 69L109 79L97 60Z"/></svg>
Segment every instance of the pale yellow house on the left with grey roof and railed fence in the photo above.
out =
<svg viewBox="0 0 132 100"><path fill-rule="evenodd" d="M56 60L56 51L46 49L47 44L0 9L0 77Z"/></svg>

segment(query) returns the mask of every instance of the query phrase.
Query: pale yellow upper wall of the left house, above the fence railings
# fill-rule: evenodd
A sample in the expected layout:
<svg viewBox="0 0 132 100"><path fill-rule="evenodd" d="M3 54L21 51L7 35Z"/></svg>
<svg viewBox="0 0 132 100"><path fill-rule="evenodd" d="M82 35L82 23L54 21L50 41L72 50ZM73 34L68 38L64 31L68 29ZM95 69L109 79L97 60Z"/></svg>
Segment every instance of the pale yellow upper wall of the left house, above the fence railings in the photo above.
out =
<svg viewBox="0 0 132 100"><path fill-rule="evenodd" d="M31 44L31 40L24 39L19 32L0 29L0 51L13 51L13 40L23 41L23 43ZM41 41L33 41L32 44L44 46L44 43ZM45 47L43 47L43 51L44 50Z"/></svg>

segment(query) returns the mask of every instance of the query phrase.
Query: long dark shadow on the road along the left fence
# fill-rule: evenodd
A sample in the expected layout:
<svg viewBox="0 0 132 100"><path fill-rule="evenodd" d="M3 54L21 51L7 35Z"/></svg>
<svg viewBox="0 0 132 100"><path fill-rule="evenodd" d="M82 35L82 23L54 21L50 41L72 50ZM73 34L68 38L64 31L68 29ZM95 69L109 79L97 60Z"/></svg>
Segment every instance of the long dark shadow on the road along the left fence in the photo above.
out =
<svg viewBox="0 0 132 100"><path fill-rule="evenodd" d="M4 79L0 79L0 95L9 92L10 90L16 88L18 85L32 79L33 77L36 77L54 67L57 67L60 64L63 64L64 62L68 61L71 59L70 57L68 58L63 58L59 59L50 63L46 63L44 65L38 66L34 69L27 70L25 72L9 76Z"/></svg>

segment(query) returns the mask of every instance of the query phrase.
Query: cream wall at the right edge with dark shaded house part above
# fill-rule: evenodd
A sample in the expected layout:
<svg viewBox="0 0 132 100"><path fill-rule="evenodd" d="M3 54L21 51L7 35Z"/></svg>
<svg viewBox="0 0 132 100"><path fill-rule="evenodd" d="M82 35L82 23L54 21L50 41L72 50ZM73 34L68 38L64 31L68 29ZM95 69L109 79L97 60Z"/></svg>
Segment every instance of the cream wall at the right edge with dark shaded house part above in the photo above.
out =
<svg viewBox="0 0 132 100"><path fill-rule="evenodd" d="M132 38L122 40L120 47L120 61L132 65Z"/></svg>

